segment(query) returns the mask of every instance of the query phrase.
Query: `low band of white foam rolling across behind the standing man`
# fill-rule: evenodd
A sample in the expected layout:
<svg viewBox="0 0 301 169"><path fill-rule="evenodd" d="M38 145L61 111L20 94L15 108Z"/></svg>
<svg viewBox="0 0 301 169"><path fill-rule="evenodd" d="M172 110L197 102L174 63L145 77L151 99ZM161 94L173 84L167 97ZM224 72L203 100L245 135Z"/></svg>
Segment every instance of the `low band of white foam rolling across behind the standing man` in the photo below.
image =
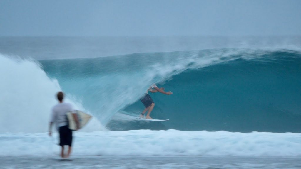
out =
<svg viewBox="0 0 301 169"><path fill-rule="evenodd" d="M57 135L0 134L1 156L58 155ZM74 133L73 155L300 156L300 133L104 131Z"/></svg>

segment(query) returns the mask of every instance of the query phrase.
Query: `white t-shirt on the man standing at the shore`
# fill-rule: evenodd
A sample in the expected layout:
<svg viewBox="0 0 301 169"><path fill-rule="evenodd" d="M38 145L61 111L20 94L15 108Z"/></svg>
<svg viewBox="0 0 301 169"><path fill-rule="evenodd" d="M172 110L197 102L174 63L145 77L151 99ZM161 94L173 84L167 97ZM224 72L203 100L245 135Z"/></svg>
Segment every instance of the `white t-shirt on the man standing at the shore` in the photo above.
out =
<svg viewBox="0 0 301 169"><path fill-rule="evenodd" d="M70 103L58 103L52 108L50 122L55 123L57 128L67 125L66 113L70 110L73 110Z"/></svg>

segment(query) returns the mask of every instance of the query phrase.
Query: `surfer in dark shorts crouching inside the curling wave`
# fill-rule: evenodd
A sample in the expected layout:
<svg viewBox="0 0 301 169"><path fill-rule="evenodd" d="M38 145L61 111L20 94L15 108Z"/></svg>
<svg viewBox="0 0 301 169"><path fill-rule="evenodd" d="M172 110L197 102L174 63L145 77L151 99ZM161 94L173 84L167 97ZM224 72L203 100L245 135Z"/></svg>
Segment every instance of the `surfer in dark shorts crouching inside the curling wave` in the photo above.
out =
<svg viewBox="0 0 301 169"><path fill-rule="evenodd" d="M156 93L156 92L160 92L162 94L166 94L166 95L171 95L172 92L166 92L164 91L164 88L158 88L156 84L152 84L151 87L149 87L146 91L146 93L144 94L144 96L140 99L141 102L144 104L145 109L143 110L143 112L141 113L140 117L143 118L144 117L144 113L148 110L147 115L145 116L145 118L151 118L150 114L151 111L154 109L155 103L153 101L153 99L151 98L151 96L148 94L148 91L150 91L151 93Z"/></svg>

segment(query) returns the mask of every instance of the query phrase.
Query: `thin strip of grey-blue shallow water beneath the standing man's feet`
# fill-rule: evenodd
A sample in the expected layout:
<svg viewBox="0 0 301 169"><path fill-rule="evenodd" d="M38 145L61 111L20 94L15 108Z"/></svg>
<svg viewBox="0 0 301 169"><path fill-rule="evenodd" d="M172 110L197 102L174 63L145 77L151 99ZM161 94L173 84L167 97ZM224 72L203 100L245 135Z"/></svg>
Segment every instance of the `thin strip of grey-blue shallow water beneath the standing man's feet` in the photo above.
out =
<svg viewBox="0 0 301 169"><path fill-rule="evenodd" d="M0 168L206 168L206 169L276 169L301 167L298 157L231 156L56 156L1 157Z"/></svg>

